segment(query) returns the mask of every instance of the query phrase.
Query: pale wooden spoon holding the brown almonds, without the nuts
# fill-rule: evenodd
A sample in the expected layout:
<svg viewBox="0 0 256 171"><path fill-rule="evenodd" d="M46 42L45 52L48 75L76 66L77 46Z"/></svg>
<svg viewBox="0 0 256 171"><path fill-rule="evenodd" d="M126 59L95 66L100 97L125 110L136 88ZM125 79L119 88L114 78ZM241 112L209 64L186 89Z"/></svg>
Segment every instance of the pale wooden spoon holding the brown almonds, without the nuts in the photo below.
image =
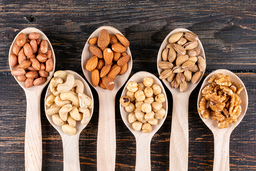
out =
<svg viewBox="0 0 256 171"><path fill-rule="evenodd" d="M122 34L110 26L102 26L95 30L88 41L86 42L82 53L82 69L84 76L88 82L92 84L92 72L88 71L85 66L87 61L92 57L92 53L89 50L89 40L94 37L98 37L101 30L106 29L110 34L116 35L116 33ZM94 87L99 95L99 125L98 125L98 138L97 138L97 170L115 170L115 150L116 150L116 137L115 137L115 96L118 90L124 85L128 79L132 69L132 56L130 48L127 47L125 53L130 55L126 72L115 78L115 87L112 91L104 90L99 85Z"/></svg>

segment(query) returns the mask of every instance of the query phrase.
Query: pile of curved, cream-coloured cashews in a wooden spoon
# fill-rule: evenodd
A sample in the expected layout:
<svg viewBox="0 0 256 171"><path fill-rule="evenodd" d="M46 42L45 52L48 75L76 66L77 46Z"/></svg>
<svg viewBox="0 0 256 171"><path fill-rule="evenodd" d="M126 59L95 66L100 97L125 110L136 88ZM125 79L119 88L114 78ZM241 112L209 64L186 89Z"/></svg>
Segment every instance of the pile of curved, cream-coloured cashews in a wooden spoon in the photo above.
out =
<svg viewBox="0 0 256 171"><path fill-rule="evenodd" d="M45 101L45 104L50 106L45 111L46 115L52 116L54 124L62 126L63 132L74 135L76 121L81 120L81 124L87 124L90 119L88 107L93 107L91 98L83 93L83 82L74 79L73 74L56 71L49 88L53 94Z"/></svg>

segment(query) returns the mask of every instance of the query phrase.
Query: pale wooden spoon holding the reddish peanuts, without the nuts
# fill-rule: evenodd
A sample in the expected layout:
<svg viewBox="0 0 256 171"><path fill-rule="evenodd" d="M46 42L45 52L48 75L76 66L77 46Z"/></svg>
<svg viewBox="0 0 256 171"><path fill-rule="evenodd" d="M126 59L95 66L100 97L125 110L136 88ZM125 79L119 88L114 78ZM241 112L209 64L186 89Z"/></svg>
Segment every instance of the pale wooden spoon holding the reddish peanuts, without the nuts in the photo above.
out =
<svg viewBox="0 0 256 171"><path fill-rule="evenodd" d="M29 27L20 31L20 33L25 33L26 36L32 32L37 32L39 34L40 40L47 40L48 48L51 50L51 59L54 63L53 70L49 72L48 77L46 77L46 81L40 86L32 86L27 88L25 86L25 81L20 82L17 80L17 76L14 78L17 80L19 85L24 89L27 99L27 115L26 115L26 131L25 131L25 170L41 170L42 168L42 133L41 133L41 118L40 118L40 99L41 93L46 84L50 81L54 69L55 69L55 54L51 43L47 36L40 30ZM13 54L13 47L16 43L15 37L10 50L10 54ZM9 58L10 61L10 58ZM9 64L10 65L10 64ZM15 67L16 68L16 67ZM14 69L10 66L10 69Z"/></svg>

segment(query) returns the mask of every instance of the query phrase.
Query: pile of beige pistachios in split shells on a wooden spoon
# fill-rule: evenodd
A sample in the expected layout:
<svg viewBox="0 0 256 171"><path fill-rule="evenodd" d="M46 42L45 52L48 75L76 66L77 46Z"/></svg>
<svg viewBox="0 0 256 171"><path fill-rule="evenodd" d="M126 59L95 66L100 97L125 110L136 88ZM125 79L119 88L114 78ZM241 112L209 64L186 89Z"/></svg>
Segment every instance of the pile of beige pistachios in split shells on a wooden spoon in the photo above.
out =
<svg viewBox="0 0 256 171"><path fill-rule="evenodd" d="M158 62L158 67L164 71L160 79L171 82L172 88L179 87L180 92L185 92L187 82L197 83L202 72L205 71L205 59L196 49L198 36L192 32L177 32L170 36L169 43L162 52L163 61Z"/></svg>

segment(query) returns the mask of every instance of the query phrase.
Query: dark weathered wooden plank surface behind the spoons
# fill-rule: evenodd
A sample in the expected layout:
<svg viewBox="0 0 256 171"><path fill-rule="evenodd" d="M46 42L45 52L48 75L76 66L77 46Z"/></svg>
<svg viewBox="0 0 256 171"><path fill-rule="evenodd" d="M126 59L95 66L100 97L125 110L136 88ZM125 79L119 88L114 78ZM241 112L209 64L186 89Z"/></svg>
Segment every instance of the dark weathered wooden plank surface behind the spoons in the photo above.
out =
<svg viewBox="0 0 256 171"><path fill-rule="evenodd" d="M17 33L36 27L49 38L57 70L74 70L83 76L81 54L90 34L100 26L120 30L130 41L131 75L148 71L158 76L157 53L164 38L175 28L196 33L205 50L208 73L229 69L244 82L249 104L243 120L231 133L230 170L256 169L255 80L256 3L248 1L0 1L0 170L24 170L26 96L10 74L8 53ZM214 137L197 112L201 82L189 98L188 170L212 170ZM48 87L48 85L47 85ZM166 87L165 87L166 88ZM116 171L134 170L136 143L120 116L116 95ZM81 170L97 170L98 94L94 111L79 140ZM168 116L151 141L151 170L169 170L172 95ZM63 170L59 133L44 111L46 88L41 96L42 170Z"/></svg>

